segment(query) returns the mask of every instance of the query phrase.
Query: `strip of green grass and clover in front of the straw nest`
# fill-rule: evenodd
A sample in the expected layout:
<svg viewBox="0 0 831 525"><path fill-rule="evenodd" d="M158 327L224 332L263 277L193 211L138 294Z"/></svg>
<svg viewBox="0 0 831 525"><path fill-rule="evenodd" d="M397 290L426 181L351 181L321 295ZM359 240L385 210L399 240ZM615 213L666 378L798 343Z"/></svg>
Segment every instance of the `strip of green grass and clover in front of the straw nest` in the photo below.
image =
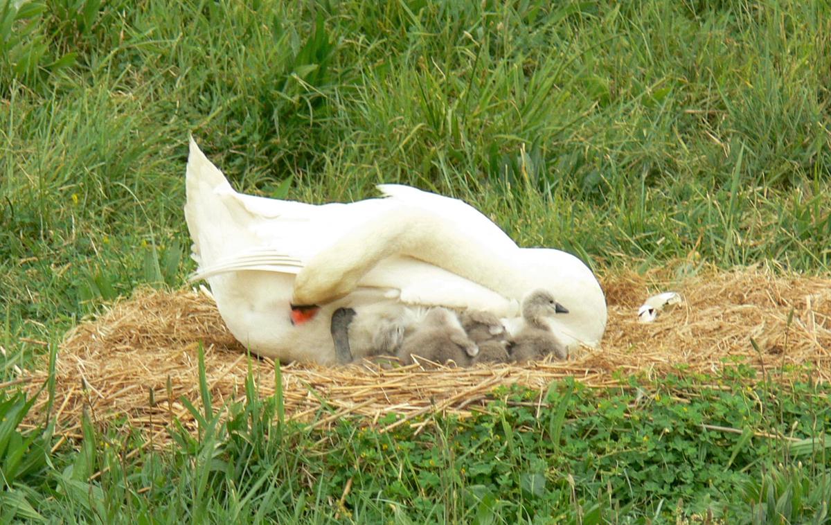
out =
<svg viewBox="0 0 831 525"><path fill-rule="evenodd" d="M28 446L27 469L4 469L15 477L0 493L0 517L825 523L828 387L750 387L749 377L739 370L712 385L669 377L611 390L573 381L547 392L500 389L483 412L435 418L420 433L404 425L382 434L355 418L324 430L281 423L278 398L252 395L248 404L191 407L198 437L174 429L169 447L136 456L140 439L117 424L101 429L92 414L76 451L47 454L40 434L30 434L32 444L9 441L7 458ZM247 389L255 393L250 378ZM19 413L23 400L12 402Z"/></svg>

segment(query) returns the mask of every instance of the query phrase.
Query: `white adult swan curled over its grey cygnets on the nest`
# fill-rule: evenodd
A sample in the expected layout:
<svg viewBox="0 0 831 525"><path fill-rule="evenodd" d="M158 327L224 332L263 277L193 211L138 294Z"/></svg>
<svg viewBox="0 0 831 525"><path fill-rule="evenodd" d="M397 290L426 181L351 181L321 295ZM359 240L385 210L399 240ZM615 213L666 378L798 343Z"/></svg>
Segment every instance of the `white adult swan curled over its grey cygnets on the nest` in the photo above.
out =
<svg viewBox="0 0 831 525"><path fill-rule="evenodd" d="M578 258L519 248L458 199L378 188L386 198L350 204L239 194L191 139L184 215L199 265L191 280L209 283L238 341L281 361L337 362L330 321L342 308L356 312L351 338L382 338L401 335L402 320L424 307L513 318L538 288L561 302L545 320L560 341L600 341L606 302Z"/></svg>

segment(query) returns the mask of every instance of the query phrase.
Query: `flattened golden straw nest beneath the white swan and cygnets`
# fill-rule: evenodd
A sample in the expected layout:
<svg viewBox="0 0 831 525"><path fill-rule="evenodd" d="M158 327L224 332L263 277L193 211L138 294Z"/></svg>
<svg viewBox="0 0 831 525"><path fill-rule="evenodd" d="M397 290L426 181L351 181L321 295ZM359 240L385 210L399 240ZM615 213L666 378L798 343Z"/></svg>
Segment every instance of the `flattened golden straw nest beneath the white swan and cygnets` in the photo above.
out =
<svg viewBox="0 0 831 525"><path fill-rule="evenodd" d="M788 365L810 365L805 368L813 370L815 380L831 377L829 279L742 269L700 272L680 282L658 272L629 273L602 284L609 319L601 350L563 362L468 369L291 364L282 367L286 415L315 425L347 414L364 415L368 424L389 413L403 415L383 427L390 429L429 413L469 414L498 385L543 390L552 380L572 376L588 385L612 386L633 373L711 373L736 361L769 374ZM638 322L644 299L666 290L681 292L684 302L655 322ZM242 399L248 356L207 295L144 290L116 302L96 320L76 326L61 346L53 405L59 426L66 435L76 434L85 406L96 420L120 417L162 437L171 416L194 425L180 398L199 405L199 342L214 406ZM272 395L273 362L250 361L261 395ZM30 374L32 392L47 379L46 369L44 364ZM41 394L32 414L42 414L46 397Z"/></svg>

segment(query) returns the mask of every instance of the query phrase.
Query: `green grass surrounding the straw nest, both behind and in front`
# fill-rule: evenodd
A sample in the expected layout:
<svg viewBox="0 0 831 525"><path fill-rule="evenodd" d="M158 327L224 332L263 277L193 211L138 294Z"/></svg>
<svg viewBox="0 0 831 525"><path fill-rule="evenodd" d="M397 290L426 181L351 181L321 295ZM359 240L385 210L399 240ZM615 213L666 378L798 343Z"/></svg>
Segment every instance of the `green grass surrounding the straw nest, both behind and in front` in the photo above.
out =
<svg viewBox="0 0 831 525"><path fill-rule="evenodd" d="M415 184L601 273L827 272L829 86L825 1L0 0L0 382L184 285L189 134L245 192ZM497 392L418 435L263 400L129 458L118 422L18 432L6 386L0 518L824 523L827 389L749 376Z"/></svg>

